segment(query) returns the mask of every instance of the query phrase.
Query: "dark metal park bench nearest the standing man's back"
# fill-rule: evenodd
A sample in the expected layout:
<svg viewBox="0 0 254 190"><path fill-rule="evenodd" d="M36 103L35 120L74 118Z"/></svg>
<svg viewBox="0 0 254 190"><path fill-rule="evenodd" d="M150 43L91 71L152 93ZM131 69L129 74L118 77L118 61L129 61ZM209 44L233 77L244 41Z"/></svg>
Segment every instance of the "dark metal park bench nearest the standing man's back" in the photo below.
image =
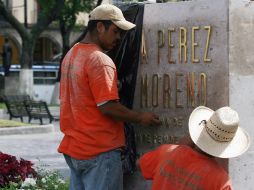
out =
<svg viewBox="0 0 254 190"><path fill-rule="evenodd" d="M54 116L50 113L48 105L44 101L24 101L24 105L28 114L29 123L32 119L39 119L41 125L43 124L43 118L48 118L49 123L59 120L59 116Z"/></svg>

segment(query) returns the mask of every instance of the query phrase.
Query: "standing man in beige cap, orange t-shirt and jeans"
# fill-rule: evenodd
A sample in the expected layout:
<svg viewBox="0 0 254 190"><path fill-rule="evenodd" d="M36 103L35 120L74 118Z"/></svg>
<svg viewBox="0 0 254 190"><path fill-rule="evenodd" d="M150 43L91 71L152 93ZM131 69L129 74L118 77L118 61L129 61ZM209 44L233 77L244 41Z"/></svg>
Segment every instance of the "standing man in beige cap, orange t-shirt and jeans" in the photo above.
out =
<svg viewBox="0 0 254 190"><path fill-rule="evenodd" d="M159 125L151 112L137 113L119 103L117 73L104 53L115 47L122 30L135 25L122 11L103 4L90 13L88 33L65 56L60 82L58 151L71 170L71 190L121 190L123 121Z"/></svg>

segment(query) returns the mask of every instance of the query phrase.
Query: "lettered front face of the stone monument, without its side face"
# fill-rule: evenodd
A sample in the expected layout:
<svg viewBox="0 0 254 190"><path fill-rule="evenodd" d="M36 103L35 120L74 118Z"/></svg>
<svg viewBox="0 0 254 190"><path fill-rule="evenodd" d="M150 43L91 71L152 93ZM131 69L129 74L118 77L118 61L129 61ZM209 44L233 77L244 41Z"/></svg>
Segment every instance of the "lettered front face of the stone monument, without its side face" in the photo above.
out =
<svg viewBox="0 0 254 190"><path fill-rule="evenodd" d="M141 63L137 76L137 84L134 98L134 109L141 111L153 111L161 119L169 119L169 125L160 127L135 128L137 151L142 154L151 150L161 143L175 143L174 139L181 138L188 133L188 118L194 107L200 105L195 101L195 105L187 105L187 88L186 78L189 73L195 74L195 92L194 97L198 97L197 87L199 82L197 76L205 73L207 76L207 104L206 106L216 109L220 106L227 105L229 102L229 65L228 65L228 8L227 0L195 0L185 2L169 2L165 4L147 4L145 5L143 30L146 43L147 64ZM196 57L200 62L192 62L192 29L199 27L196 31L195 39L198 42L196 48ZM205 44L207 40L207 31L204 27L211 26L212 33L208 55L212 58L210 63L203 59L205 54ZM172 60L175 64L168 63L168 30L174 28L171 33L171 43L174 44L172 51ZM180 62L179 44L180 30L186 30L187 41L187 61ZM158 38L158 31L164 30L164 38ZM158 41L164 39L164 43L159 42L161 48L158 49ZM163 40L162 40L163 41ZM163 45L162 45L163 44ZM160 53L158 53L158 51ZM158 59L159 55L159 59ZM183 56L182 56L183 59ZM158 63L158 60L160 63ZM165 108L163 105L163 81L164 74L170 76L171 102L170 107ZM183 77L176 78L177 74L183 74ZM148 106L141 107L141 76L147 75L148 79ZM154 79L154 81L153 81ZM153 83L158 83L153 87ZM176 87L180 86L180 90ZM158 90L158 92L157 92ZM181 94L177 98L177 93ZM153 97L156 99L158 94L158 104L154 104ZM155 101L156 102L156 101ZM182 107L176 104L181 102ZM154 106L155 105L155 106ZM173 119L182 118L180 124L176 124ZM173 120L173 121L172 121ZM172 137L172 140L171 140ZM166 140L163 140L166 139ZM131 183L126 189L142 190L147 189L149 183L142 176L135 174Z"/></svg>

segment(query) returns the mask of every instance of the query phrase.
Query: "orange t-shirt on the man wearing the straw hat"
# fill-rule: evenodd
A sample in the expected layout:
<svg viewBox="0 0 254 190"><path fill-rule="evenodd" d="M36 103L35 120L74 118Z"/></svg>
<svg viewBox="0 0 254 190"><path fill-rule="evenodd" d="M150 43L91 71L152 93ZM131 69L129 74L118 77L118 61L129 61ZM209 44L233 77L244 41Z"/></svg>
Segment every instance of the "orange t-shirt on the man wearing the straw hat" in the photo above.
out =
<svg viewBox="0 0 254 190"><path fill-rule="evenodd" d="M161 145L140 158L142 175L153 190L231 190L227 172L186 145Z"/></svg>

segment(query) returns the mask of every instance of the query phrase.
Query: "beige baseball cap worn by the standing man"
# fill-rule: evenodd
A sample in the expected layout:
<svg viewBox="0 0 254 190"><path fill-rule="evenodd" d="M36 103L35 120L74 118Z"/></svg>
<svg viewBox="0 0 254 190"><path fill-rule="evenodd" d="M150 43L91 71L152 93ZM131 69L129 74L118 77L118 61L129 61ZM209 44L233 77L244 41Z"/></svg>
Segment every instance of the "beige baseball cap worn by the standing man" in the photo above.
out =
<svg viewBox="0 0 254 190"><path fill-rule="evenodd" d="M130 30L136 26L124 18L122 11L118 7L111 4L102 4L96 7L90 13L89 20L111 20L122 30Z"/></svg>

